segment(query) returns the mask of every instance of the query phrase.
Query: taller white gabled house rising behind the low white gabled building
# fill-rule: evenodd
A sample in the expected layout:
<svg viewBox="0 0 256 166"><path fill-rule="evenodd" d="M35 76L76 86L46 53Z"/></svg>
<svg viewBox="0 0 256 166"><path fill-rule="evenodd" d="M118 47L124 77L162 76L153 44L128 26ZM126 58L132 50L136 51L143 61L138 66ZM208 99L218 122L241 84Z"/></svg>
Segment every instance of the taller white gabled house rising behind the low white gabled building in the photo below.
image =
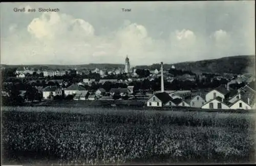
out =
<svg viewBox="0 0 256 166"><path fill-rule="evenodd" d="M227 90L227 86L226 85L221 85L217 88L215 88L214 90L211 90L210 92L208 92L205 95L205 100L208 102L212 99L215 99L216 97L221 97L221 98L225 98L225 95L228 93L229 91Z"/></svg>

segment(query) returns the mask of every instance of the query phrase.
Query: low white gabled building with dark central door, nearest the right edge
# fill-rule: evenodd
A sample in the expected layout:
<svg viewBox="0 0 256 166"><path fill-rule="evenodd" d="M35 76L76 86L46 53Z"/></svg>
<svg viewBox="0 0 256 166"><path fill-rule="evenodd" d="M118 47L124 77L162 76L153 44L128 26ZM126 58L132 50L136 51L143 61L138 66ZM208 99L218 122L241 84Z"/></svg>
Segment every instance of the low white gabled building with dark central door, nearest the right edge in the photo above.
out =
<svg viewBox="0 0 256 166"><path fill-rule="evenodd" d="M239 98L229 105L230 109L252 109L252 106L253 103L250 102L250 99L245 97Z"/></svg>

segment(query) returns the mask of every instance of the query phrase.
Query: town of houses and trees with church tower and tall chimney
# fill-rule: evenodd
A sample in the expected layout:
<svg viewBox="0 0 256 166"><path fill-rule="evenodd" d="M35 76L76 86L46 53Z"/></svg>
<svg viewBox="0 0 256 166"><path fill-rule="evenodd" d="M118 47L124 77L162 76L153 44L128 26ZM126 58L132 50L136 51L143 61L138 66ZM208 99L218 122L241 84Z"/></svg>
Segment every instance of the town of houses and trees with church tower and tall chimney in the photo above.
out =
<svg viewBox="0 0 256 166"><path fill-rule="evenodd" d="M255 76L196 74L191 71L125 67L93 70L40 70L29 67L1 69L4 105L64 101L137 101L146 107L255 109ZM8 77L7 77L8 76Z"/></svg>

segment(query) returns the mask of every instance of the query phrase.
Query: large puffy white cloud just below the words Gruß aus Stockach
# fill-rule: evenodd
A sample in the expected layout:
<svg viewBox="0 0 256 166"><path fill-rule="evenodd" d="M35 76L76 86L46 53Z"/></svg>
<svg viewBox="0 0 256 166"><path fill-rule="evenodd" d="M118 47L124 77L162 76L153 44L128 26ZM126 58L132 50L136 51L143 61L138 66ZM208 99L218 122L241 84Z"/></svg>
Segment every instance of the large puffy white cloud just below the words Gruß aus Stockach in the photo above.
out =
<svg viewBox="0 0 256 166"><path fill-rule="evenodd" d="M28 32L38 39L83 38L94 36L94 27L70 15L43 13L28 25ZM65 34L65 35L64 35Z"/></svg>

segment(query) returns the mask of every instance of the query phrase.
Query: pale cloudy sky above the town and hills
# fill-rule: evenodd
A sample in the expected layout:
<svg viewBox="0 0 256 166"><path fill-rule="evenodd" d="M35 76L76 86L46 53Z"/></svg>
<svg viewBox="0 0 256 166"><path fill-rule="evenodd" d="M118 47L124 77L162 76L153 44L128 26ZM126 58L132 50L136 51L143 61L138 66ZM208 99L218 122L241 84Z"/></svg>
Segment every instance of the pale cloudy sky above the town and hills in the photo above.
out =
<svg viewBox="0 0 256 166"><path fill-rule="evenodd" d="M1 64L124 64L128 55L135 66L255 55L254 1L1 3L0 12Z"/></svg>

